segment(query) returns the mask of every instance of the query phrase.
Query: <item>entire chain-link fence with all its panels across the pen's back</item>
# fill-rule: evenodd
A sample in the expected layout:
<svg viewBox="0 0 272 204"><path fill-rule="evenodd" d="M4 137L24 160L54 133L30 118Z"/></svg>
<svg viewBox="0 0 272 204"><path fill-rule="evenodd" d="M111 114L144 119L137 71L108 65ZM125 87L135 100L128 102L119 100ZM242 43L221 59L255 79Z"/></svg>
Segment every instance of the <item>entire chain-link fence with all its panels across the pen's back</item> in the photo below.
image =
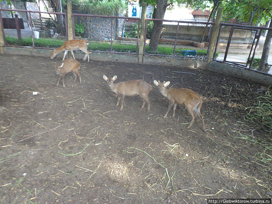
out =
<svg viewBox="0 0 272 204"><path fill-rule="evenodd" d="M21 18L11 18L7 12L19 13ZM0 9L0 14L5 46L53 49L68 39L66 13ZM87 49L92 52L138 55L140 20L75 12L72 14L73 36L88 40ZM151 40L154 24L159 25L157 45ZM144 55L206 59L214 24L147 18ZM269 29L221 23L213 60L257 70ZM272 66L271 46L265 63L268 69Z"/></svg>

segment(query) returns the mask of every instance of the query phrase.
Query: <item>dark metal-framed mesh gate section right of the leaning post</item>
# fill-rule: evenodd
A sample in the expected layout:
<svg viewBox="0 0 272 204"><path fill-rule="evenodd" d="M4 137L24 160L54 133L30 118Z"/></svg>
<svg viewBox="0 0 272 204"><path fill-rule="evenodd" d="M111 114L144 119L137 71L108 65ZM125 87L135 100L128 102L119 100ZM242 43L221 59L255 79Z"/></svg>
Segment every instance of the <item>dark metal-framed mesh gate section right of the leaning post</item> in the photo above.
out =
<svg viewBox="0 0 272 204"><path fill-rule="evenodd" d="M229 25L230 24L228 24L228 26ZM224 26L224 23L220 24L213 60L251 69L262 29L246 28L243 26L238 27L235 25L231 27L228 40L226 40L226 36L220 36L222 26ZM238 34L240 33L243 33L244 36L239 37ZM216 51L222 49L219 48L219 45L225 44L226 41L226 46L223 46L225 54L221 54L221 56L218 56L216 59ZM220 53L223 53L222 50Z"/></svg>

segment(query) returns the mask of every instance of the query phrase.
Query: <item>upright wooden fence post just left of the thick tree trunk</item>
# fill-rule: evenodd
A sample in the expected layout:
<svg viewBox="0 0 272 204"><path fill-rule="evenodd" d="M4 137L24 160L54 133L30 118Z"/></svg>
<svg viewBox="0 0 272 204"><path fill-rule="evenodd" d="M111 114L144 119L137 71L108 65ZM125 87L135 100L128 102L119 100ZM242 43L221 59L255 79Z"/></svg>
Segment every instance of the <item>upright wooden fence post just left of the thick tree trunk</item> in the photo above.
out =
<svg viewBox="0 0 272 204"><path fill-rule="evenodd" d="M140 26L140 41L139 41L139 54L138 63L143 63L144 57L144 31L145 31L145 15L146 15L146 2L142 3L142 15L141 15L141 26Z"/></svg>

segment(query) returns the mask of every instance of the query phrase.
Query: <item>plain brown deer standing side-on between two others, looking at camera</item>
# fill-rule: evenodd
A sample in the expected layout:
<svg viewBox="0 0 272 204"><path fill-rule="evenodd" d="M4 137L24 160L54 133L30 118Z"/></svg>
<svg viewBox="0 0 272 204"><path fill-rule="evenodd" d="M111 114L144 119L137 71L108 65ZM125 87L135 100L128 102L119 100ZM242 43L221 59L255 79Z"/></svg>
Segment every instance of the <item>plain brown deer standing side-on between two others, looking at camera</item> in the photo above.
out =
<svg viewBox="0 0 272 204"><path fill-rule="evenodd" d="M148 93L150 90L152 90L152 86L141 79L131 80L131 81L125 81L125 82L119 82L119 83L113 83L117 76L113 77L107 77L103 75L103 79L107 81L108 86L110 89L115 92L118 96L118 101L116 106L119 105L120 99L121 99L121 109L123 109L124 106L124 98L125 96L137 96L140 95L141 98L144 100L141 110L144 108L145 103L147 102L148 112L150 111L150 100L148 99Z"/></svg>

